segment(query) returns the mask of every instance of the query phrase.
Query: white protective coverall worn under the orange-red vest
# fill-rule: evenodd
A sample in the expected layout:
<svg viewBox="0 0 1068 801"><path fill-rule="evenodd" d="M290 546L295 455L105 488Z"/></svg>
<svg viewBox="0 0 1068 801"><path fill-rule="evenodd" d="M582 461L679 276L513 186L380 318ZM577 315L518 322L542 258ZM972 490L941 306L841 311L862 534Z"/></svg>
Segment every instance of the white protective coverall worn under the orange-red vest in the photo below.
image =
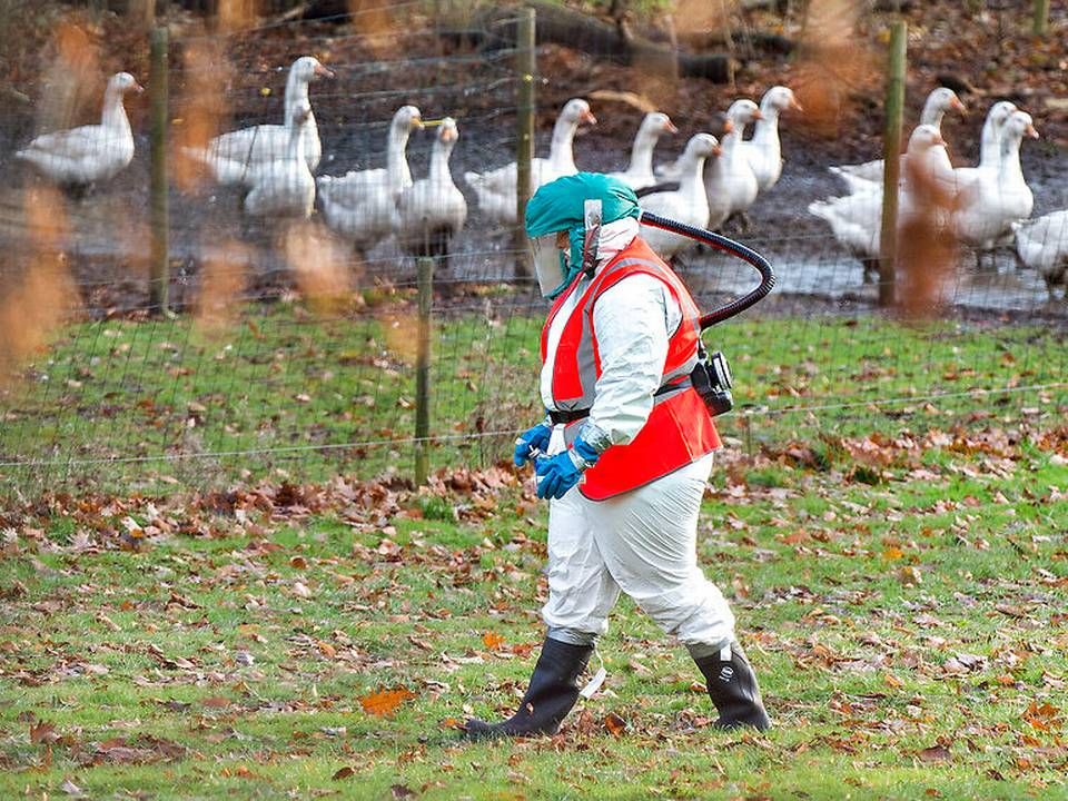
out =
<svg viewBox="0 0 1068 801"><path fill-rule="evenodd" d="M633 240L637 228L630 217L602 227L597 271ZM550 411L553 357L589 280L571 291L548 332L541 393ZM593 327L602 373L590 422L613 445L629 443L645 424L663 376L669 337L681 322L670 290L651 275L627 276L599 297ZM553 431L548 455L564 448L563 428ZM734 639L734 616L696 562L698 514L711 469L708 454L606 501L584 497L580 484L551 502L550 594L542 610L550 636L592 644L607 630L607 615L622 590L695 657Z"/></svg>

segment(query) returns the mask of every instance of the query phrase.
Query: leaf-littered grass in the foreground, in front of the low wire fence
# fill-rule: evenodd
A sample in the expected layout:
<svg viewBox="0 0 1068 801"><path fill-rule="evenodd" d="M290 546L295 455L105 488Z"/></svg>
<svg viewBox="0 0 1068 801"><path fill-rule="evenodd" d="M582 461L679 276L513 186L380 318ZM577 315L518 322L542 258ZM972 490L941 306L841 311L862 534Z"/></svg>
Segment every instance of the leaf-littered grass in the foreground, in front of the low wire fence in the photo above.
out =
<svg viewBox="0 0 1068 801"><path fill-rule="evenodd" d="M800 782L788 754L833 774L844 753L947 775L978 760L991 782L1056 783L1068 763L1057 701L1068 673L1059 612L1068 520L1050 502L1062 492L1052 457L1065 441L1060 427L980 422L841 437L829 457L789 445L722 459L702 564L733 597L778 723L767 738L710 741L722 745L724 775L761 753L781 781ZM884 484L848 479L858 463ZM749 481L754 471L767 479ZM426 520L425 493L456 520ZM53 540L58 518L76 535ZM126 520L146 532L139 551L123 548ZM477 783L482 769L461 764L455 745L416 744L428 732L449 735L476 711L472 698L512 708L538 639L531 613L544 522L507 468L441 474L418 492L394 478L338 477L221 494L56 496L19 510L14 523L3 552L14 614L0 632L0 674L27 691L78 693L91 682L194 693L157 695L159 714L132 733L77 710L71 720L85 722L73 725L55 712L55 725L34 718L37 739L23 730L34 750L0 753L17 771L55 772L53 788L76 768L199 765L249 740L255 761L216 774L284 781L270 765L290 743L295 759L329 760L327 781L363 781L383 775L389 750L375 738L384 731L408 754L392 762L390 785ZM307 593L294 592L298 583ZM39 610L52 639L28 647ZM692 666L647 619L625 604L616 619L602 691L555 738L506 753L541 764L599 752L623 765L655 753L649 787L684 794L695 785L671 754L706 736L714 713ZM18 709L43 710L39 698ZM119 714L138 719L138 703L126 703ZM353 761L353 749L368 756ZM503 753L477 759L518 770ZM568 781L585 788L581 773ZM543 787L536 772L526 777ZM939 777L926 787L953 795L955 780ZM72 781L86 787L81 774Z"/></svg>

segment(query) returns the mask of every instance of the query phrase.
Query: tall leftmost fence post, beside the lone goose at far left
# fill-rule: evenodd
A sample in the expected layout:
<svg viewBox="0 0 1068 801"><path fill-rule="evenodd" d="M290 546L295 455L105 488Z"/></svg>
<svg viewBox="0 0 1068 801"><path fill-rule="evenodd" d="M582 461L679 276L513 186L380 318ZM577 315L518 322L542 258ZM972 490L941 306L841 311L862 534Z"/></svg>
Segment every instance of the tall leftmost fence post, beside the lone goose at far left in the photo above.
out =
<svg viewBox="0 0 1068 801"><path fill-rule="evenodd" d="M167 208L167 28L159 26L151 33L151 66L148 91L151 103L151 169L149 185L149 216L152 244L148 286L149 306L167 314L170 284Z"/></svg>

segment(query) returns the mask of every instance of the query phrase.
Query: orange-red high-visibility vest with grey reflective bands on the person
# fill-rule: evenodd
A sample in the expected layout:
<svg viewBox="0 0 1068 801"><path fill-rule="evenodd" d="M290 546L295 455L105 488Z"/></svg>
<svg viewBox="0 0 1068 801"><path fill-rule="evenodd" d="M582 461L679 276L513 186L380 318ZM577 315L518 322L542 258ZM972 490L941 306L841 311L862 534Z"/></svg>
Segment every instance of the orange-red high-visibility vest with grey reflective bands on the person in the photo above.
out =
<svg viewBox="0 0 1068 801"><path fill-rule="evenodd" d="M620 251L597 273L575 304L560 337L553 363L552 394L556 412L582 412L593 406L601 357L593 307L602 293L627 276L644 273L659 278L682 310L682 322L669 332L668 358L661 390L637 435L626 445L613 445L586 471L580 491L587 498L604 501L644 486L720 447L720 436L704 400L686 377L698 363L701 335L700 313L690 291L671 268L641 237ZM548 347L548 329L564 299L576 290L580 278L556 299L542 329L542 364ZM671 389L672 384L678 389ZM574 442L583 421L565 428L567 446Z"/></svg>

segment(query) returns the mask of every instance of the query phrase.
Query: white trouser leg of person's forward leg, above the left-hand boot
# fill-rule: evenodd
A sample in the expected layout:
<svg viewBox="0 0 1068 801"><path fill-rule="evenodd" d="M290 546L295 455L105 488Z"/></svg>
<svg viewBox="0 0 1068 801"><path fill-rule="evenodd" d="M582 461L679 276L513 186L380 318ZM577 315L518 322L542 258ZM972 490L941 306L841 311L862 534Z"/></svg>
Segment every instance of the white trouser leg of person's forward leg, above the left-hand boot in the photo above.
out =
<svg viewBox="0 0 1068 801"><path fill-rule="evenodd" d="M577 490L550 503L548 601L542 619L550 629L596 637L607 631L620 587L597 547L589 504Z"/></svg>

